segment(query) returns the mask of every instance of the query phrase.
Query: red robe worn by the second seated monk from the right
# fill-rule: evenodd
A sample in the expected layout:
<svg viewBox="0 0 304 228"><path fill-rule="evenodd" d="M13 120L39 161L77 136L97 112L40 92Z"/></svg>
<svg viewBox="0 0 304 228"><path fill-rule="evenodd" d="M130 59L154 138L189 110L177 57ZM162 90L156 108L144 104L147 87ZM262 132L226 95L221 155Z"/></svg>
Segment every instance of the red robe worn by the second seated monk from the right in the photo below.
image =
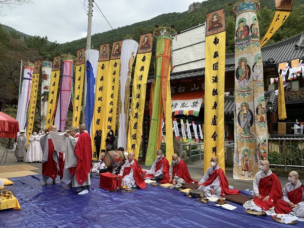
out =
<svg viewBox="0 0 304 228"><path fill-rule="evenodd" d="M277 175L272 173L270 176L261 178L258 185L258 192L261 199L253 198L253 202L257 206L265 211L274 207L276 201L282 198L282 187ZM267 196L269 196L268 201L263 201Z"/></svg>

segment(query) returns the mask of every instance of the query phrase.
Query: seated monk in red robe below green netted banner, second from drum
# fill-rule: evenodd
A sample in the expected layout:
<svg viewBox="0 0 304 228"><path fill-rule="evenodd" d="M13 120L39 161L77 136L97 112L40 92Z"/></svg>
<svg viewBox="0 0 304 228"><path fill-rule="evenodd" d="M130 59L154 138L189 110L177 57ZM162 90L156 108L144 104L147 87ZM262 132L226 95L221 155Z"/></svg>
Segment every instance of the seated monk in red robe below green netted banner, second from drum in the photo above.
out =
<svg viewBox="0 0 304 228"><path fill-rule="evenodd" d="M154 161L150 170L148 170L144 176L145 179L153 179L161 181L163 179L169 179L169 162L163 155L163 151L158 149L156 151L157 159Z"/></svg>

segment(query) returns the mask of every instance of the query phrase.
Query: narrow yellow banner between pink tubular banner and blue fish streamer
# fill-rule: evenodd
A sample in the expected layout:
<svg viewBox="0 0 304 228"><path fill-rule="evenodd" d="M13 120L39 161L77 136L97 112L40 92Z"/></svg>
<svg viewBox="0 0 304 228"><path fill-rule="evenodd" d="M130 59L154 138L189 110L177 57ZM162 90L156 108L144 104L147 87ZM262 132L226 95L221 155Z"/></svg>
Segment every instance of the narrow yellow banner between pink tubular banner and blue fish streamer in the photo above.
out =
<svg viewBox="0 0 304 228"><path fill-rule="evenodd" d="M73 120L72 120L73 127L78 127L80 123L85 72L86 72L85 49L83 48L77 51L77 62L75 68L75 82L74 82L74 97L73 97Z"/></svg>

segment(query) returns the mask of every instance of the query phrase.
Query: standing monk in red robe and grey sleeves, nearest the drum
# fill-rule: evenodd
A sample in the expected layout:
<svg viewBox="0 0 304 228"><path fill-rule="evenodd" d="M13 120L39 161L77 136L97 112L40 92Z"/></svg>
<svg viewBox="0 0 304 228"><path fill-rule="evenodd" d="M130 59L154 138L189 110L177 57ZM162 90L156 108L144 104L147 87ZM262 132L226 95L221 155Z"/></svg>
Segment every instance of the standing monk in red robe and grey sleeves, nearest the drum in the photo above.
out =
<svg viewBox="0 0 304 228"><path fill-rule="evenodd" d="M91 184L90 170L92 161L91 137L87 132L87 126L82 124L79 126L80 136L72 137L68 133L65 135L71 143L71 147L67 147L67 159L74 157L74 160L66 161L65 168L70 168L72 176L72 187L81 187L77 190L78 195L89 193ZM72 146L74 145L74 149ZM71 153L73 151L73 154Z"/></svg>

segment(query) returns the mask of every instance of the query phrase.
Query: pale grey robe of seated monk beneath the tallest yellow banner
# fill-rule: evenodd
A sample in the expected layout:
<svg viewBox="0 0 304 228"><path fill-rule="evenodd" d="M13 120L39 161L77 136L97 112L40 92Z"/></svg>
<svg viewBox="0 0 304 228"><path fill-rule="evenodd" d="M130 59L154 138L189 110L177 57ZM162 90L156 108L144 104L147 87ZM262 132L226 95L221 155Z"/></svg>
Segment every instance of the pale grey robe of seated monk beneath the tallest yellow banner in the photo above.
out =
<svg viewBox="0 0 304 228"><path fill-rule="evenodd" d="M203 176L203 178L199 181L199 184L208 181L209 178L210 178L210 175L212 173L214 173L214 170L218 170L218 169L219 169L219 165L217 165L215 167L215 169L213 169L213 167L209 167L206 170L206 173ZM214 188L214 190L215 190L214 195L211 195L211 189L212 188ZM207 197L215 197L215 196L220 197L220 195L221 195L221 187L220 187L220 183L219 183L219 178L218 177L216 177L216 179L210 185L207 185L207 186L200 185L198 187L198 189L203 190L205 192L205 194L207 195Z"/></svg>

